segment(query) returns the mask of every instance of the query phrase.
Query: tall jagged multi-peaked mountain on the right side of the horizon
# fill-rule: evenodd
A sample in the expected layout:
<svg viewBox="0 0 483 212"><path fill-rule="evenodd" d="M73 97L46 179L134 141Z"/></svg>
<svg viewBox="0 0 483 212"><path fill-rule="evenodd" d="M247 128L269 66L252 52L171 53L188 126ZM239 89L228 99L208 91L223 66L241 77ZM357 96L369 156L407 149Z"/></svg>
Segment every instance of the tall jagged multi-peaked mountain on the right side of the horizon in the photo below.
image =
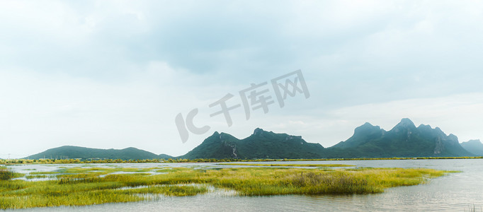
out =
<svg viewBox="0 0 483 212"><path fill-rule="evenodd" d="M386 157L447 157L472 156L453 134L429 125L414 126L402 119L390 131L365 123L354 130L353 136L327 148L329 158L386 158Z"/></svg>

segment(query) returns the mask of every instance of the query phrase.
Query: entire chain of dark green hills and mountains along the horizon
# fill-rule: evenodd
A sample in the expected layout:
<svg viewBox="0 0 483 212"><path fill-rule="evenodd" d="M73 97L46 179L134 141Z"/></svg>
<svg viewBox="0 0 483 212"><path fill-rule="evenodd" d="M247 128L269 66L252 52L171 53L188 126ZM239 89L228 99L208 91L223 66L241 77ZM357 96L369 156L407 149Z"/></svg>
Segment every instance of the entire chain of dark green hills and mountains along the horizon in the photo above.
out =
<svg viewBox="0 0 483 212"><path fill-rule="evenodd" d="M154 158L238 158L238 159L293 159L293 158L413 158L461 157L483 155L479 140L458 142L453 134L446 135L438 127L421 124L415 126L410 119L402 119L390 131L365 123L358 126L346 141L324 148L319 143L308 143L302 136L276 134L255 129L245 139L215 131L199 146L179 157L156 155L137 148L94 149L76 146L52 148L30 159L63 155L68 158L154 159Z"/></svg>

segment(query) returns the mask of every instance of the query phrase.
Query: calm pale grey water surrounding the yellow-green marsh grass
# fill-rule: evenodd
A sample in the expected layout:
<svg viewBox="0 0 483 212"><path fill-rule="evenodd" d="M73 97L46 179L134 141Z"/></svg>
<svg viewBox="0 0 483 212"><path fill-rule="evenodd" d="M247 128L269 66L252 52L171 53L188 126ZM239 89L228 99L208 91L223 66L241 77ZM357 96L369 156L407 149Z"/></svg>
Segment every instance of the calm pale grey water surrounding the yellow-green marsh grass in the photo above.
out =
<svg viewBox="0 0 483 212"><path fill-rule="evenodd" d="M273 162L280 163L280 162ZM298 164L343 163L358 167L425 167L459 170L431 179L428 184L386 189L382 194L324 196L241 197L210 193L188 197L161 197L155 201L81 207L35 208L16 211L477 211L483 207L483 160L348 160L300 161ZM213 163L161 164L171 167L220 167ZM160 167L158 164L122 164L122 167ZM13 166L18 172L52 171L81 165ZM94 165L109 167L112 165ZM227 166L222 166L227 167Z"/></svg>

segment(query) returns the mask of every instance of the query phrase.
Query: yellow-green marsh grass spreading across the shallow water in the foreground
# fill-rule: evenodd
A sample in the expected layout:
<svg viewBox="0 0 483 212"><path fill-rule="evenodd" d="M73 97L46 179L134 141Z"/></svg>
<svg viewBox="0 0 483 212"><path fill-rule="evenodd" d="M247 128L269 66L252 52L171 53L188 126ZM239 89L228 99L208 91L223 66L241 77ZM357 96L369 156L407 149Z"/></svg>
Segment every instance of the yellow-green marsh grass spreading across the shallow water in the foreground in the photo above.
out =
<svg viewBox="0 0 483 212"><path fill-rule="evenodd" d="M159 168L158 168L159 169ZM125 172L133 174L103 175ZM152 169L151 169L152 170ZM445 175L446 171L402 168L303 169L240 167L195 170L174 167L149 175L144 169L69 168L58 179L41 182L0 181L0 209L81 206L127 201L149 201L157 195L192 196L208 187L229 189L242 196L280 194L371 194L409 186ZM192 186L193 184L198 186Z"/></svg>

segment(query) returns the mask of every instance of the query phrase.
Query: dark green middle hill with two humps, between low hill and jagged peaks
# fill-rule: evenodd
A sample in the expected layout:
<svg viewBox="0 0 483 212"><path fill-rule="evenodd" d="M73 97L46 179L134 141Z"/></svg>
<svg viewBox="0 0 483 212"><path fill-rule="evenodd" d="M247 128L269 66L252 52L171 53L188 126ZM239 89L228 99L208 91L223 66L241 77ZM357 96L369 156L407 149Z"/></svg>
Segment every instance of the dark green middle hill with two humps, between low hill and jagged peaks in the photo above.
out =
<svg viewBox="0 0 483 212"><path fill-rule="evenodd" d="M322 158L324 147L307 143L301 136L275 134L255 129L246 139L215 132L192 151L179 158Z"/></svg>

